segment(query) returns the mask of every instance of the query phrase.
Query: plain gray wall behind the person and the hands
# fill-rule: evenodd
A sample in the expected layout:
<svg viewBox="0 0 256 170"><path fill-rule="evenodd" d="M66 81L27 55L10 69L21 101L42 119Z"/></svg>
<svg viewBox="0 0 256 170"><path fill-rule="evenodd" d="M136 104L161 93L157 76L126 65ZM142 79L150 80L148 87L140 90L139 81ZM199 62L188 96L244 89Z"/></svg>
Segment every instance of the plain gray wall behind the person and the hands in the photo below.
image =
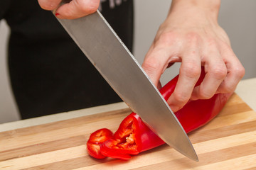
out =
<svg viewBox="0 0 256 170"><path fill-rule="evenodd" d="M135 2L134 56L142 64L159 25L164 21L171 1L139 0ZM245 67L245 77L256 77L256 1L222 1L219 23L228 33L233 50ZM186 11L184 11L186 12ZM9 28L0 23L0 123L18 120L18 111L9 86L6 68L6 40ZM180 64L168 69L161 81L163 84L178 74Z"/></svg>

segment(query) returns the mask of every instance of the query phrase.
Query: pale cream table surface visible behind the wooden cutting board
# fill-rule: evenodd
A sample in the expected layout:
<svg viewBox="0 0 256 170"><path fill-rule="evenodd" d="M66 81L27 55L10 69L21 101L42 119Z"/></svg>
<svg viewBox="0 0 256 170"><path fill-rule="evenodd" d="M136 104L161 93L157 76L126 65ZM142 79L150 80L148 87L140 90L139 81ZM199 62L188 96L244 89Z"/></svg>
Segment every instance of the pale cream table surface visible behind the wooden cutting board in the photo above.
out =
<svg viewBox="0 0 256 170"><path fill-rule="evenodd" d="M240 81L235 93L247 103L250 108L256 111L256 78L245 79ZM71 118L79 118L85 115L92 115L97 113L103 113L108 111L117 111L120 109L128 108L124 102L113 103L105 106L97 106L93 108L85 108L78 111L70 111L67 113L58 113L54 115L46 115L39 118L31 118L28 120L18 120L11 123L0 124L0 132L6 130L14 130L18 128L31 127L33 125L42 125L45 123L53 123L60 120L68 120Z"/></svg>

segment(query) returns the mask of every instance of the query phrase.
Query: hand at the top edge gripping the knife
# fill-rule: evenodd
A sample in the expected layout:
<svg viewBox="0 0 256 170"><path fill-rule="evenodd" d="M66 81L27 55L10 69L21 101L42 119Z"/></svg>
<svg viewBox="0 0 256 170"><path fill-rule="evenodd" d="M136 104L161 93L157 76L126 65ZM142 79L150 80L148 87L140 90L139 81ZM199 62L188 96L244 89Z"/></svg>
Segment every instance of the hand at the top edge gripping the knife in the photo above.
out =
<svg viewBox="0 0 256 170"><path fill-rule="evenodd" d="M38 0L41 8L55 11L58 18L74 19L87 16L97 11L100 0L72 0L68 4L59 6L61 0ZM59 6L59 7L58 7Z"/></svg>

